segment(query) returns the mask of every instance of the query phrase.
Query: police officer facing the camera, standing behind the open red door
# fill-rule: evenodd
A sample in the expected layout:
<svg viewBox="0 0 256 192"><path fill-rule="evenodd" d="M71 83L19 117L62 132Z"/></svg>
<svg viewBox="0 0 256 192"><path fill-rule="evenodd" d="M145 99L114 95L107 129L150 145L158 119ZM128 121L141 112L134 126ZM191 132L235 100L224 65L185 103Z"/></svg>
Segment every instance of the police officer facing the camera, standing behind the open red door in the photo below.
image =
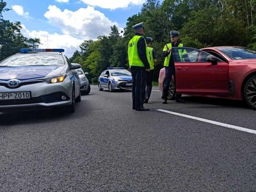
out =
<svg viewBox="0 0 256 192"><path fill-rule="evenodd" d="M171 31L171 43L164 45L164 49L162 52L162 56L165 57L164 60L164 67L165 67L165 78L164 78L164 87L162 93L163 104L167 103L167 96L169 92L169 86L174 76L175 79L175 67L174 61L172 56L172 47L183 47L183 44L178 42L179 39L179 32L178 31ZM175 102L185 102L185 100L181 99L181 94L175 94Z"/></svg>

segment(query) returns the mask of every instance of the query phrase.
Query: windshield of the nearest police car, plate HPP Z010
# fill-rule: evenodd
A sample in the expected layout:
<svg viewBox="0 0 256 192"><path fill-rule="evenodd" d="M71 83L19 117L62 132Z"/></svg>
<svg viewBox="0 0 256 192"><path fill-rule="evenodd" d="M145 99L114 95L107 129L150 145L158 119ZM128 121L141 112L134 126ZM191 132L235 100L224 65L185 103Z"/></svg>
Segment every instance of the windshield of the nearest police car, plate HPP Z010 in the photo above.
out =
<svg viewBox="0 0 256 192"><path fill-rule="evenodd" d="M60 54L31 53L13 55L0 62L0 66L62 66L65 61Z"/></svg>

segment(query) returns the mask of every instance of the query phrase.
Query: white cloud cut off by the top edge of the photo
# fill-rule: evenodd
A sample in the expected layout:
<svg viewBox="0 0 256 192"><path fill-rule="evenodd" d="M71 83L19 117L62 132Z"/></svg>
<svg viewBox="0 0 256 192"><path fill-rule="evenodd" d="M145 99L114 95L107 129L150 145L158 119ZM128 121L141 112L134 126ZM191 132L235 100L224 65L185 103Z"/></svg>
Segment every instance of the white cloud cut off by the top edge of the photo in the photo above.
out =
<svg viewBox="0 0 256 192"><path fill-rule="evenodd" d="M80 0L85 4L99 6L105 9L127 8L130 5L142 5L146 0Z"/></svg>

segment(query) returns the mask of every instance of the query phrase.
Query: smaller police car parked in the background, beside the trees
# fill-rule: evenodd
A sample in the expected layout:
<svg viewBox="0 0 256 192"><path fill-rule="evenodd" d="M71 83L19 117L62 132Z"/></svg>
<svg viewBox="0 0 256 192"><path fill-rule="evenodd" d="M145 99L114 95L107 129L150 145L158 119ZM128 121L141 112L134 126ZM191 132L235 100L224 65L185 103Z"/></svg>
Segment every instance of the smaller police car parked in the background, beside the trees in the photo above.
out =
<svg viewBox="0 0 256 192"><path fill-rule="evenodd" d="M123 67L109 67L100 74L98 87L100 91L105 88L110 92L132 89L132 74Z"/></svg>

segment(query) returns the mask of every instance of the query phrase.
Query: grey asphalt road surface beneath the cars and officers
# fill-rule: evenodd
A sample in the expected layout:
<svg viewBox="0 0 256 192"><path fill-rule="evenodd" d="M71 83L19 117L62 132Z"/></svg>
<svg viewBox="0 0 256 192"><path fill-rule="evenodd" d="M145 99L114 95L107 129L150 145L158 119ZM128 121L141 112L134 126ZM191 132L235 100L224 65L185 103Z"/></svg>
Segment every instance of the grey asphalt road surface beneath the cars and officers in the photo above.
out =
<svg viewBox="0 0 256 192"><path fill-rule="evenodd" d="M184 96L162 104L154 87L132 110L130 91L91 94L62 110L0 113L0 191L255 192L256 130L243 101Z"/></svg>

